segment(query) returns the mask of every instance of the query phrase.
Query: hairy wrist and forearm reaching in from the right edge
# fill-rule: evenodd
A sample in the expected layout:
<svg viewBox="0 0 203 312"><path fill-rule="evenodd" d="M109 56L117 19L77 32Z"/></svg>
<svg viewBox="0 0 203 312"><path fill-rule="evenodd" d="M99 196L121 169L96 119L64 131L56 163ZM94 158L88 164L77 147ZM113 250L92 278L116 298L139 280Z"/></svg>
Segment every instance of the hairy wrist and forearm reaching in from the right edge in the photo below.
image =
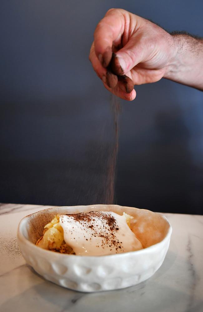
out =
<svg viewBox="0 0 203 312"><path fill-rule="evenodd" d="M203 40L172 34L174 56L164 78L203 90Z"/></svg>

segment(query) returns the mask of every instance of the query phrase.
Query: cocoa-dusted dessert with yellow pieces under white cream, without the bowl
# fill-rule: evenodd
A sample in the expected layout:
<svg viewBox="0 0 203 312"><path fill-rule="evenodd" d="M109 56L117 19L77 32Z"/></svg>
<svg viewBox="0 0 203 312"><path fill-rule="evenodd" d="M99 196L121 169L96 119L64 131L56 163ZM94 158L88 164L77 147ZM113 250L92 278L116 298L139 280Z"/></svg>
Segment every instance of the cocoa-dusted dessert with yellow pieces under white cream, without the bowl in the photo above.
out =
<svg viewBox="0 0 203 312"><path fill-rule="evenodd" d="M105 256L143 249L131 226L134 218L125 212L90 211L57 214L45 225L36 245L77 256Z"/></svg>

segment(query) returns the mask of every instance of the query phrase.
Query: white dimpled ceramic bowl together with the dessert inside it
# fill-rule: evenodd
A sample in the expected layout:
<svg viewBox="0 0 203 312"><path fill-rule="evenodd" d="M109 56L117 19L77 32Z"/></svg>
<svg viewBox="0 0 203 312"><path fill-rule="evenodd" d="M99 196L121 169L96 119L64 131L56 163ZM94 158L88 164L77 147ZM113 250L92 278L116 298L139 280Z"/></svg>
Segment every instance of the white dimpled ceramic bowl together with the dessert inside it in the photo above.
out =
<svg viewBox="0 0 203 312"><path fill-rule="evenodd" d="M81 246L79 248L75 247L78 246L79 242L79 238L75 237L76 232L73 231L73 236L70 235L72 227L81 227L82 223L79 222L78 225L78 220L75 220L79 216L76 217L76 215L81 212L83 215L88 215L90 212L93 213L92 216L95 215L94 218L92 217L91 222L89 222L90 220L86 222L87 225L89 224L90 231L87 232L86 228L84 232L80 232L80 235L87 236L83 238L82 242L89 241L90 243L89 245L82 243L84 252ZM103 219L102 223L92 223L93 219L98 221L96 216L101 219L104 216L112 217L112 215L116 223L114 227L112 227L112 224L109 225L111 229L108 227L108 217L106 223ZM63 225L62 221L66 222L66 226L63 225L64 236L62 238L66 240L65 243L69 243L67 246L71 247L72 250L65 248L65 253L60 250L61 245L58 249L55 248L58 245L53 245L53 249L47 250L46 240L44 240L44 246L36 246L36 242L39 239L42 241L42 238L48 232L44 232L44 227L48 224L50 226L50 221L55 216L58 216L59 220L61 219L60 223L56 222L55 224ZM119 223L119 217L122 218L121 223ZM77 222L73 226L70 221ZM130 226L128 223L130 223ZM100 230L97 231L100 233L99 235L94 232L95 229L93 228L96 228L97 225L99 227L101 224L104 225L104 229L106 227L106 237L103 233L102 236L99 236L101 234ZM125 231L122 231L125 226ZM49 228L54 227L50 226ZM58 227L58 229L60 228ZM128 232L128 229L132 235ZM45 279L73 290L94 292L125 288L151 277L164 261L170 243L171 232L172 228L166 217L145 209L118 205L65 206L41 210L24 217L18 226L17 240L26 262ZM111 234L116 235L116 239L109 238ZM71 239L69 238L69 241L67 241L66 236L71 236ZM124 241L125 236L127 236L126 241ZM75 243L74 237L77 238L77 243ZM122 241L121 237L123 238ZM92 243L90 238L92 238ZM111 243L109 243L109 239ZM62 244L64 244L63 240L61 239ZM73 241L75 245L70 246ZM127 244L128 241L129 245ZM96 243L97 246L98 244L100 246L96 247ZM108 245L109 248L102 248L102 244L105 247L107 244L111 246ZM95 248L92 248L92 246L95 246ZM50 246L48 249L50 249ZM64 251L64 249L62 250ZM100 252L97 250L100 250ZM96 252L96 255L92 255L92 252L93 254Z"/></svg>

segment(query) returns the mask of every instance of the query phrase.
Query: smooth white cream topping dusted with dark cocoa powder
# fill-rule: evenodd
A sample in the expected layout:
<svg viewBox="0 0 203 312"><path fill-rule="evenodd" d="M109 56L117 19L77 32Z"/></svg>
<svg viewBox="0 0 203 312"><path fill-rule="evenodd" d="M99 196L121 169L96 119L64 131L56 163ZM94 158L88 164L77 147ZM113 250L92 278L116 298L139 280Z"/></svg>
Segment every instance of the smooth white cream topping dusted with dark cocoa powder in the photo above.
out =
<svg viewBox="0 0 203 312"><path fill-rule="evenodd" d="M93 211L61 215L64 241L76 255L103 256L142 249L128 227L125 216L115 212Z"/></svg>

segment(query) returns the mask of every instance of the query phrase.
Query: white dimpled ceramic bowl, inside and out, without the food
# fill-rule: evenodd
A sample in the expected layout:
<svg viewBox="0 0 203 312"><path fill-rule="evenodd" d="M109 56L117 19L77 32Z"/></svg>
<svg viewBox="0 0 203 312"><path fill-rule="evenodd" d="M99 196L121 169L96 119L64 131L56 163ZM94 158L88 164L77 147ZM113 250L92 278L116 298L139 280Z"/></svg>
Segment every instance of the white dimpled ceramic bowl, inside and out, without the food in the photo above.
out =
<svg viewBox="0 0 203 312"><path fill-rule="evenodd" d="M147 248L109 256L76 256L35 246L43 227L57 214L92 210L126 212L136 218L136 235ZM166 217L145 209L118 205L53 207L24 217L17 241L26 262L45 279L83 292L115 290L136 285L161 266L169 247L172 228Z"/></svg>

